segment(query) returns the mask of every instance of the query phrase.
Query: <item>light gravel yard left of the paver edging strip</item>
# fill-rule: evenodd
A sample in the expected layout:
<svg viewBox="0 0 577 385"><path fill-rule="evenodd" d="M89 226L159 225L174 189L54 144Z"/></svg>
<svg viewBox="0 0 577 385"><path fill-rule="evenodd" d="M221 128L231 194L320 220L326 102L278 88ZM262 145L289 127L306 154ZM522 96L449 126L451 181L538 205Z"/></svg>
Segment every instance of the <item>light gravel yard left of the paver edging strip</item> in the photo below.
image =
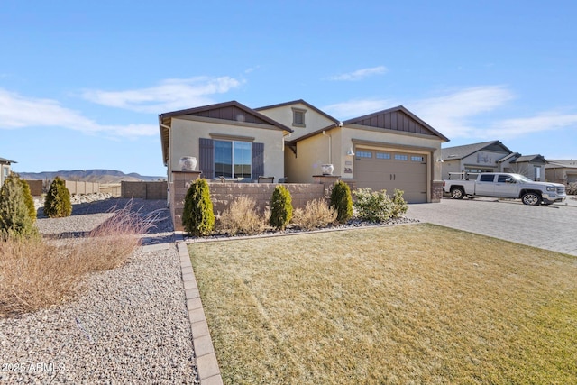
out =
<svg viewBox="0 0 577 385"><path fill-rule="evenodd" d="M129 199L73 206L67 218L39 210L48 237L81 236ZM0 383L197 383L179 256L165 201L134 199L155 215L143 247L120 268L87 277L78 298L0 318Z"/></svg>

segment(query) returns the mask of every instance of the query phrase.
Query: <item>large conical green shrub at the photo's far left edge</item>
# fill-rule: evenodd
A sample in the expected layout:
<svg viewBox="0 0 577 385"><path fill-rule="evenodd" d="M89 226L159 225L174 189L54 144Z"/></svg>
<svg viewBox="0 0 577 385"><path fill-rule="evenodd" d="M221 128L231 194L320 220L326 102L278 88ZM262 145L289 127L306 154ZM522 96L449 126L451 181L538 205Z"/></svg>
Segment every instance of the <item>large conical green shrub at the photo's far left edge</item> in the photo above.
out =
<svg viewBox="0 0 577 385"><path fill-rule="evenodd" d="M26 206L21 180L12 173L0 188L0 238L3 240L31 239L40 236L32 221L29 208Z"/></svg>

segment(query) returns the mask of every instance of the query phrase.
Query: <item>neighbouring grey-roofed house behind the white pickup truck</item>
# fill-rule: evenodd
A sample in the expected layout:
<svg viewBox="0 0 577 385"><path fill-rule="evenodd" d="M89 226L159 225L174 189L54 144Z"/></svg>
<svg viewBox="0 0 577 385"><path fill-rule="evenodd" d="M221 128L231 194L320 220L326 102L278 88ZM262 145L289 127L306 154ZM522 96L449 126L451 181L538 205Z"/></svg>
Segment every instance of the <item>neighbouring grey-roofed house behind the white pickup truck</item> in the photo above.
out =
<svg viewBox="0 0 577 385"><path fill-rule="evenodd" d="M545 181L547 160L541 155L521 155L500 141L444 148L443 179L450 173L515 172L529 179Z"/></svg>

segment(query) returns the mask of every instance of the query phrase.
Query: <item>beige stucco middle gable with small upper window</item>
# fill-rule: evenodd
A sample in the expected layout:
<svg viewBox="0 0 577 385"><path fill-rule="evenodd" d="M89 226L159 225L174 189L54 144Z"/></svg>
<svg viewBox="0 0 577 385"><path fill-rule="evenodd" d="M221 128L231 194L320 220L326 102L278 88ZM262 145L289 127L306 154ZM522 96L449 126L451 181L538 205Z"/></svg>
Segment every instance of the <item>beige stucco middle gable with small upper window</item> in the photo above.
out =
<svg viewBox="0 0 577 385"><path fill-rule="evenodd" d="M298 108L300 110L306 110L305 113L305 125L306 127L300 127L292 125L292 114L293 108ZM325 128L334 122L327 119L324 115L318 114L315 110L310 109L307 105L301 103L296 103L294 105L282 105L276 108L270 108L267 110L259 110L262 115L268 116L271 119L284 124L287 127L294 130L287 136L287 140L293 141L306 135L307 133L313 133L317 130Z"/></svg>

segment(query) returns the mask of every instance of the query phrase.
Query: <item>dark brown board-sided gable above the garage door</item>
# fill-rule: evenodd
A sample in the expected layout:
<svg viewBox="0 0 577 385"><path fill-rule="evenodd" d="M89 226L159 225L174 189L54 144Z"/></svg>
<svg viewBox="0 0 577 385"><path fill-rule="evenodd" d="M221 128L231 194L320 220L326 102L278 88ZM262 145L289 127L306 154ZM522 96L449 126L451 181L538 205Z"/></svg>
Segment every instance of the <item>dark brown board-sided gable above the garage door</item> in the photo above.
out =
<svg viewBox="0 0 577 385"><path fill-rule="evenodd" d="M363 115L343 122L345 125L358 124L366 127L382 128L385 130L398 131L401 133L417 133L421 135L436 136L444 142L448 142L442 133L437 132L429 124L419 119L402 105L379 111L371 115Z"/></svg>

